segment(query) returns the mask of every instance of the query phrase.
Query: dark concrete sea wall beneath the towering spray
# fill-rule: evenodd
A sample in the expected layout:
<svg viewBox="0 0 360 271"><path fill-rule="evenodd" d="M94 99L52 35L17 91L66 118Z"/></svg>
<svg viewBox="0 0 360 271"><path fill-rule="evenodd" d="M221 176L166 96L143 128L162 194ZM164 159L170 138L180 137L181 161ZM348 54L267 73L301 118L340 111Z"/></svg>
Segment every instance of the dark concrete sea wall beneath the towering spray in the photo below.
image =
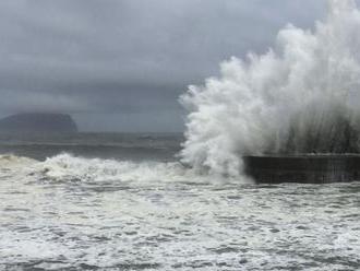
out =
<svg viewBox="0 0 360 271"><path fill-rule="evenodd" d="M245 156L257 182L329 184L360 180L360 155Z"/></svg>

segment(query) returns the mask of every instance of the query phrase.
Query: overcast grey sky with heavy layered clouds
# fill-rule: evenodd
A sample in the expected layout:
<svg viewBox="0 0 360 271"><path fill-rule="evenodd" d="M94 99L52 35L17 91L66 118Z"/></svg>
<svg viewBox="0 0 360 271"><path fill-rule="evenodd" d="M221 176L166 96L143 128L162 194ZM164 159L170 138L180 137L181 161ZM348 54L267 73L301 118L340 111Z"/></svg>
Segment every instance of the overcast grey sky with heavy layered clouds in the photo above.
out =
<svg viewBox="0 0 360 271"><path fill-rule="evenodd" d="M188 85L325 13L325 0L1 0L0 117L65 113L82 131L182 131Z"/></svg>

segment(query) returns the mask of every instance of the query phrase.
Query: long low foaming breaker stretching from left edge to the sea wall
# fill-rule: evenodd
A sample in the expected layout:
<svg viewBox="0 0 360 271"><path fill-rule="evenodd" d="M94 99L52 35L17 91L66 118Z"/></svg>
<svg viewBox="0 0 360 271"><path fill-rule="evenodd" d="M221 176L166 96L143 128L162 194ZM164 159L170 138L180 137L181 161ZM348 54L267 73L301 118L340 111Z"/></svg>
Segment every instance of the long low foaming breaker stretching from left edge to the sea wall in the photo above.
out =
<svg viewBox="0 0 360 271"><path fill-rule="evenodd" d="M152 186L154 182L199 182L214 184L231 181L228 178L208 175L189 168L179 162L116 161L85 158L62 153L40 162L16 155L0 155L0 175L11 174L24 180L34 181L83 181L83 182L139 182ZM235 179L232 179L235 180ZM245 177L237 182L249 184Z"/></svg>

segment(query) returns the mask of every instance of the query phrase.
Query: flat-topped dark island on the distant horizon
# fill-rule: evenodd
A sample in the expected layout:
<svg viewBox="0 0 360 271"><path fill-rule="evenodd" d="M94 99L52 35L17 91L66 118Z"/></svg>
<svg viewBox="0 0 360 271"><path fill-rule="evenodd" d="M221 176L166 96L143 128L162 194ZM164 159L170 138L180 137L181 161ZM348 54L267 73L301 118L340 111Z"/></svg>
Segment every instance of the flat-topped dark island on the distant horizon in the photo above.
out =
<svg viewBox="0 0 360 271"><path fill-rule="evenodd" d="M77 126L67 114L16 114L0 119L0 132L77 132Z"/></svg>

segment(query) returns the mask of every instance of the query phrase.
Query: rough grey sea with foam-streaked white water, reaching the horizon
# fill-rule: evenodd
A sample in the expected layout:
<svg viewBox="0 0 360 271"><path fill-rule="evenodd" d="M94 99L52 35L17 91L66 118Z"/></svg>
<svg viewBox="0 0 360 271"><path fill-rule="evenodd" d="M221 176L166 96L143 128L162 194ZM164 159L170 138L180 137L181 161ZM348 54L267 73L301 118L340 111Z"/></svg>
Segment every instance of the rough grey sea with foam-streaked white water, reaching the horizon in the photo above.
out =
<svg viewBox="0 0 360 271"><path fill-rule="evenodd" d="M0 270L360 270L360 182L256 185L176 133L0 136Z"/></svg>

